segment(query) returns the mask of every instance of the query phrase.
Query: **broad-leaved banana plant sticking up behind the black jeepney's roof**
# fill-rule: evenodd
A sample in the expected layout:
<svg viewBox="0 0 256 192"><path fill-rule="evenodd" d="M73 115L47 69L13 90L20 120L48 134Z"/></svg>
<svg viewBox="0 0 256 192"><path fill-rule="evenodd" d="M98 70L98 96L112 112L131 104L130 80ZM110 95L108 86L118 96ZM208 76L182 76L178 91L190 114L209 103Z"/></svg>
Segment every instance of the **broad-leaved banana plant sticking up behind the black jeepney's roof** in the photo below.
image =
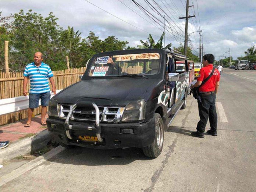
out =
<svg viewBox="0 0 256 192"><path fill-rule="evenodd" d="M147 38L148 42L147 41L143 42L143 40L141 40L142 45L138 45L138 47L140 49L168 49L169 47L171 47L171 43L163 47L163 39L164 39L164 32L161 35L160 39L155 44L155 41L152 38L152 35L149 34L149 38Z"/></svg>

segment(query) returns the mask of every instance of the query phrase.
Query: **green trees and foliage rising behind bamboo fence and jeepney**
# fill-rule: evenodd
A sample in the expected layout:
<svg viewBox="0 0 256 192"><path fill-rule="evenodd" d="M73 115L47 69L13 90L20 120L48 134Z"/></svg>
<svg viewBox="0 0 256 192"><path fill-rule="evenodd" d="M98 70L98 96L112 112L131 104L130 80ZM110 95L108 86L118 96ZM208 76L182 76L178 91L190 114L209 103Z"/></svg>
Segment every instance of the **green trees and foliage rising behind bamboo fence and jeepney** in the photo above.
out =
<svg viewBox="0 0 256 192"><path fill-rule="evenodd" d="M127 41L121 41L115 36L108 36L101 40L94 32L90 31L86 38L82 33L68 26L67 29L60 27L58 18L49 13L47 17L29 10L25 13L10 14L2 17L0 11L0 71L5 71L4 65L4 41L9 41L9 68L11 72L22 72L26 64L31 63L33 54L40 51L44 55L44 61L51 69L64 70L67 68L65 56L69 56L70 67L84 67L87 61L96 53L123 49L157 48L167 49L169 43L163 47L164 33L157 41L149 34L148 42L143 42L138 47L127 47ZM184 48L174 48L184 54ZM199 58L192 54L188 47L190 60L199 61Z"/></svg>

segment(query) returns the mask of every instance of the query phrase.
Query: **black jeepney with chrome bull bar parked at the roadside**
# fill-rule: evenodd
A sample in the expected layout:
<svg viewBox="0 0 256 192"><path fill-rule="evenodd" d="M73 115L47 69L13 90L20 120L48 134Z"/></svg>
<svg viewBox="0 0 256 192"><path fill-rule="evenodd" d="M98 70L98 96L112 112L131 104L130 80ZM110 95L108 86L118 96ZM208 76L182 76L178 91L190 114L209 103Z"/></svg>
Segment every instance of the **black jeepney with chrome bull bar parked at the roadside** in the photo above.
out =
<svg viewBox="0 0 256 192"><path fill-rule="evenodd" d="M159 156L164 131L186 107L189 69L176 71L177 60L187 57L162 49L95 54L81 81L50 100L47 128L63 147L141 147Z"/></svg>

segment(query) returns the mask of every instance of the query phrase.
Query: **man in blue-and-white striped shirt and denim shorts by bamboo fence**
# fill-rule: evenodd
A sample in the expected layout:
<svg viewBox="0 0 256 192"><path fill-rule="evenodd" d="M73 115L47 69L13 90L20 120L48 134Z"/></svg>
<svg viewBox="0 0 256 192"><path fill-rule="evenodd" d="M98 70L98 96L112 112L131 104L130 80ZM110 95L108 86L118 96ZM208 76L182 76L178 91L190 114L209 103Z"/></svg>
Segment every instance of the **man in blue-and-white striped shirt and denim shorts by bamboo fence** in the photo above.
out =
<svg viewBox="0 0 256 192"><path fill-rule="evenodd" d="M53 72L49 65L42 62L43 54L36 52L34 55L34 62L26 65L24 71L24 82L23 82L23 95L27 96L27 84L30 79L30 90L29 90L29 109L28 109L28 121L25 127L29 127L31 123L32 114L35 108L39 106L39 99L41 99L42 106L42 118L41 125L46 125L45 115L47 112L46 106L49 105L50 100L50 86L49 81L52 85L52 92L56 94L55 83L53 80ZM49 81L48 81L49 78Z"/></svg>

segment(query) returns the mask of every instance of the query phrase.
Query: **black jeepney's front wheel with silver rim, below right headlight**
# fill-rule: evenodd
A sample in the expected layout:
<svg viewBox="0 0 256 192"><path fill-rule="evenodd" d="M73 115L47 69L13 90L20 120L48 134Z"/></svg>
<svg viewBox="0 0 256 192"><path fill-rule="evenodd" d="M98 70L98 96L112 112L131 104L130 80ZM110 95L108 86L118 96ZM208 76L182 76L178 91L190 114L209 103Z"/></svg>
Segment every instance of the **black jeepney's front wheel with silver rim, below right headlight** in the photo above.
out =
<svg viewBox="0 0 256 192"><path fill-rule="evenodd" d="M154 142L142 148L145 156L152 158L156 158L161 154L164 145L164 122L158 113L154 114L154 119L156 121Z"/></svg>

